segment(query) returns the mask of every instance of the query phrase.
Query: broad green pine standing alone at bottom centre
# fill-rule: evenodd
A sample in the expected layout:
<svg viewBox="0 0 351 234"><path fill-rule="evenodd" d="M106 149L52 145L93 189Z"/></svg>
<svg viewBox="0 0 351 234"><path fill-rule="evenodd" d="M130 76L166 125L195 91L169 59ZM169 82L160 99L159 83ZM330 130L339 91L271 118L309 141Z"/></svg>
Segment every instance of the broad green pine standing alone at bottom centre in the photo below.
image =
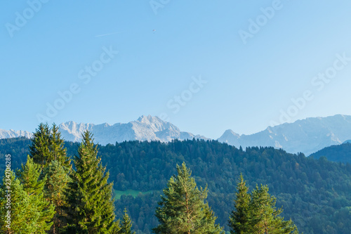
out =
<svg viewBox="0 0 351 234"><path fill-rule="evenodd" d="M198 189L190 169L183 162L177 165L178 176L172 176L161 195L155 216L159 226L153 228L154 233L222 233L215 224L216 216L204 200L207 188Z"/></svg>

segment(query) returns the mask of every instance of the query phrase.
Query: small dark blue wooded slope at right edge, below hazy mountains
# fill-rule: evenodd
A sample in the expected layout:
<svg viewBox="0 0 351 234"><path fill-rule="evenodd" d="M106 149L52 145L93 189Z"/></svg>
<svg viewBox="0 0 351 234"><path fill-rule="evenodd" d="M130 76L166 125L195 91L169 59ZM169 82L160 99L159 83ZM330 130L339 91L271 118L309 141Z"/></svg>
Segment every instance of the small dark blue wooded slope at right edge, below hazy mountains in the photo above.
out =
<svg viewBox="0 0 351 234"><path fill-rule="evenodd" d="M351 163L351 143L331 145L322 150L314 152L310 156L316 159L319 159L319 157L326 157L329 161L333 162Z"/></svg>

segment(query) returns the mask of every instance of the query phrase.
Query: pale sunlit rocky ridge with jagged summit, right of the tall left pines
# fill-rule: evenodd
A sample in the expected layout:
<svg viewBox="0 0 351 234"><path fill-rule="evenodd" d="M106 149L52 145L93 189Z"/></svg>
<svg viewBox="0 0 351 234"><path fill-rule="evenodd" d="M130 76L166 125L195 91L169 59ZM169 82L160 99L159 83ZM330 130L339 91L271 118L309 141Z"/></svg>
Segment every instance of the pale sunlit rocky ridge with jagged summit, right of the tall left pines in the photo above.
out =
<svg viewBox="0 0 351 234"><path fill-rule="evenodd" d="M89 130L94 134L95 142L101 145L123 141L161 141L168 142L173 139L207 139L204 136L194 135L180 131L177 126L164 122L159 117L143 115L136 121L127 124L77 124L66 122L59 125L65 141L81 141L81 134Z"/></svg>

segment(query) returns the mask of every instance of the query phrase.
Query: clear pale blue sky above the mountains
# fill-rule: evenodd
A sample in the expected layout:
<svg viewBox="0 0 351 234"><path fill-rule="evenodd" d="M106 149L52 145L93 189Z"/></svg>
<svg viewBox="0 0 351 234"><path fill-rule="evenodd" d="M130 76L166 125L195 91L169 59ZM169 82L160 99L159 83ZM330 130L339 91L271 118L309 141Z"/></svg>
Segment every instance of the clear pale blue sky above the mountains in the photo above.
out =
<svg viewBox="0 0 351 234"><path fill-rule="evenodd" d="M47 103L50 123L166 113L210 138L351 115L351 1L38 1L0 3L0 129L34 131Z"/></svg>

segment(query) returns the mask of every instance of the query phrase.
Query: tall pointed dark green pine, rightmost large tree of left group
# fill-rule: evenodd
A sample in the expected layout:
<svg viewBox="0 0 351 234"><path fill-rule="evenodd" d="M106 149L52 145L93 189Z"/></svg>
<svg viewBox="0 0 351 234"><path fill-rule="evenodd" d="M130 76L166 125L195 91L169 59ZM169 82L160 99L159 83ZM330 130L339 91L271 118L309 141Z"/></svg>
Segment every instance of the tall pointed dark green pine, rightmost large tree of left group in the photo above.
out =
<svg viewBox="0 0 351 234"><path fill-rule="evenodd" d="M97 145L92 135L86 131L74 157L77 171L68 183L66 233L111 233L114 228L114 201L112 183L107 183L109 173L98 157Z"/></svg>

